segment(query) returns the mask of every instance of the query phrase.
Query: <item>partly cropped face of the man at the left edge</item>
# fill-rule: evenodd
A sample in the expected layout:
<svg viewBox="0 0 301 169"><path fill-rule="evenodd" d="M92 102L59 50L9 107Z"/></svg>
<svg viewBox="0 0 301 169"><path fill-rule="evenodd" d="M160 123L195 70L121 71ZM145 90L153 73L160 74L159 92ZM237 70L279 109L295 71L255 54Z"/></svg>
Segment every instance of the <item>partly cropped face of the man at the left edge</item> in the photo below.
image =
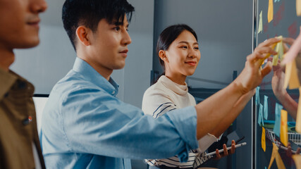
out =
<svg viewBox="0 0 301 169"><path fill-rule="evenodd" d="M0 0L0 49L25 49L39 44L39 13L44 0Z"/></svg>

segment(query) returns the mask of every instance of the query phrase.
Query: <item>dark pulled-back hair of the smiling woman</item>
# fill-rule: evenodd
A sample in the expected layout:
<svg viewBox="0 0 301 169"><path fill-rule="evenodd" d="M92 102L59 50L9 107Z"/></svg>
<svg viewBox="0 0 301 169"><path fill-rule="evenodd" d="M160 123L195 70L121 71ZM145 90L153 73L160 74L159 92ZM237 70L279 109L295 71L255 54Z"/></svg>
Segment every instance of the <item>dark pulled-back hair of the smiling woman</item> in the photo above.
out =
<svg viewBox="0 0 301 169"><path fill-rule="evenodd" d="M187 30L187 31L191 32L192 35L197 40L197 34L188 25L178 24L178 25L168 26L168 27L165 28L165 30L163 30L161 32L161 34L159 35L159 38L158 38L158 42L156 43L156 54L158 54L158 57L159 57L159 51L160 50L164 50L164 51L168 50L169 46L171 46L171 43L173 43L173 41L175 39L177 39L177 37L184 30ZM162 59L160 57L159 57L159 62L160 62L160 65L162 66L162 68L164 70L164 73L162 75L164 75L165 74L165 65L164 65L164 61L162 61Z"/></svg>

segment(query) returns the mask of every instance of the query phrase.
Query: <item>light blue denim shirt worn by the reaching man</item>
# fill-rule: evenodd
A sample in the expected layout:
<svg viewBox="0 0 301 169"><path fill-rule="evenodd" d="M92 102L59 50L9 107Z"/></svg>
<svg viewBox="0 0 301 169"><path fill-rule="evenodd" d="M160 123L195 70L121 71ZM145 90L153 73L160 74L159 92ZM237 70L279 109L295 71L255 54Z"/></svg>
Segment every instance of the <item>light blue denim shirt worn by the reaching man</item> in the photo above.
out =
<svg viewBox="0 0 301 169"><path fill-rule="evenodd" d="M197 149L193 106L158 119L116 97L118 84L76 58L56 83L42 114L47 168L131 168L130 158L188 160ZM158 132L160 131L160 132Z"/></svg>

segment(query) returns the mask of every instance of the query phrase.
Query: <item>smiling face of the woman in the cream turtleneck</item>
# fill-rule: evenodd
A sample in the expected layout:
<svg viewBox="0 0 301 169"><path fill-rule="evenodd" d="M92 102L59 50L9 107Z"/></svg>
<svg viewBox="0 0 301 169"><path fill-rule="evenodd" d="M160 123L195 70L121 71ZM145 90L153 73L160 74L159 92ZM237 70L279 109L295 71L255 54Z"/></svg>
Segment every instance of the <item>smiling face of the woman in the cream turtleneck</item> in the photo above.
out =
<svg viewBox="0 0 301 169"><path fill-rule="evenodd" d="M166 74L188 76L195 73L201 53L197 39L188 30L184 30L165 51Z"/></svg>

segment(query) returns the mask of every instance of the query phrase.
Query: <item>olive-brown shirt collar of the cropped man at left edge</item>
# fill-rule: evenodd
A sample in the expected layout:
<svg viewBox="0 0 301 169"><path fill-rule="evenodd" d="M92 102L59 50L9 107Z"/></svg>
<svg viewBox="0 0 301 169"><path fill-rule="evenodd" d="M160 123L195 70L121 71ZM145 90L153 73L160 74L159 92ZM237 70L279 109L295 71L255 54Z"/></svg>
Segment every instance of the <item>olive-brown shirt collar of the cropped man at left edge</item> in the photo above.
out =
<svg viewBox="0 0 301 169"><path fill-rule="evenodd" d="M18 76L15 73L11 71L6 72L0 68L0 100L3 99L4 95L11 89L17 79Z"/></svg>

